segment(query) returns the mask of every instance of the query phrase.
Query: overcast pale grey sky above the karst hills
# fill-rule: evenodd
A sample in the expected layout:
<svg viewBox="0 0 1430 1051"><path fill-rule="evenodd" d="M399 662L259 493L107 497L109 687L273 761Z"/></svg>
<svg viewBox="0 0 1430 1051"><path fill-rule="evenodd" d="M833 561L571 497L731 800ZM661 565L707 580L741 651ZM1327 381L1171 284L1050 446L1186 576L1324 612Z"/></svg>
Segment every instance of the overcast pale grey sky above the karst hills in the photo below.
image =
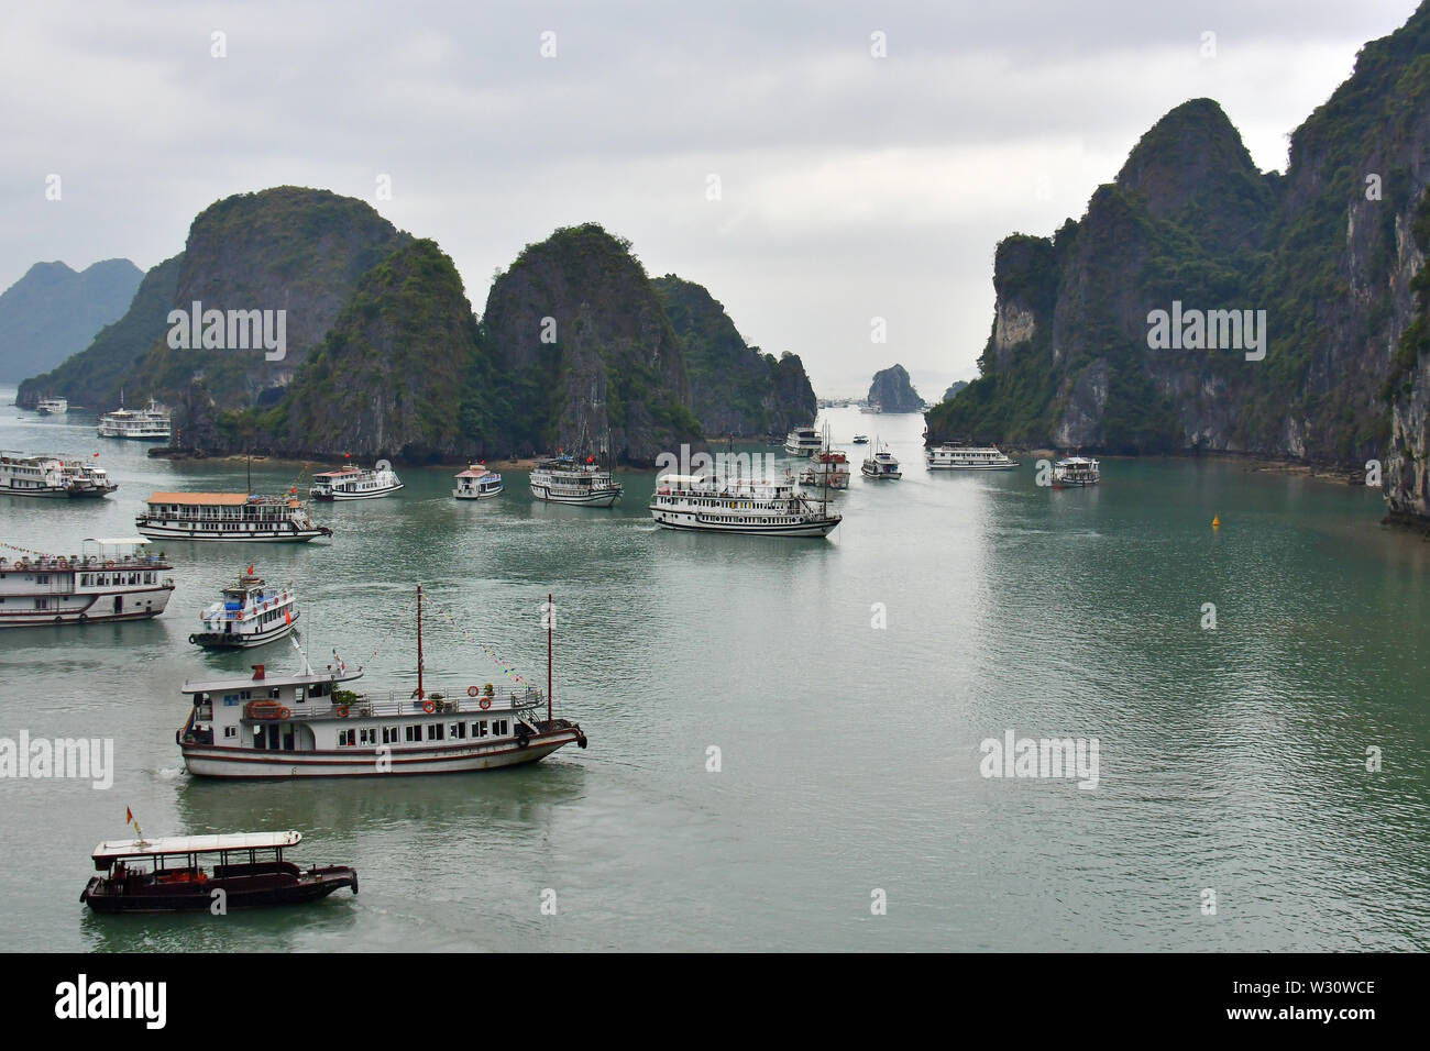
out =
<svg viewBox="0 0 1430 1051"><path fill-rule="evenodd" d="M149 269L220 197L317 186L435 239L478 313L523 245L593 220L652 276L705 285L746 342L799 353L821 395L862 395L901 362L937 400L977 372L1001 237L1081 216L1141 133L1198 96L1284 169L1287 133L1414 7L13 6L0 287L39 260Z"/></svg>

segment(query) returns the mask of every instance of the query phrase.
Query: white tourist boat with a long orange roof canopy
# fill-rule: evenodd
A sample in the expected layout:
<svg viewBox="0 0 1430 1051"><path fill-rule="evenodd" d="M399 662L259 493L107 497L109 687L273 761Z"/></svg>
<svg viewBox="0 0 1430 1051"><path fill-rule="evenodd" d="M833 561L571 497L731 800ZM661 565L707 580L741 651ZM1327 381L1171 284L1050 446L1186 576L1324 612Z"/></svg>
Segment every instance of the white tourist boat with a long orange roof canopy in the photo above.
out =
<svg viewBox="0 0 1430 1051"><path fill-rule="evenodd" d="M154 541L272 543L333 535L327 526L313 525L307 505L292 495L154 493L147 500L147 510L134 522L140 533Z"/></svg>

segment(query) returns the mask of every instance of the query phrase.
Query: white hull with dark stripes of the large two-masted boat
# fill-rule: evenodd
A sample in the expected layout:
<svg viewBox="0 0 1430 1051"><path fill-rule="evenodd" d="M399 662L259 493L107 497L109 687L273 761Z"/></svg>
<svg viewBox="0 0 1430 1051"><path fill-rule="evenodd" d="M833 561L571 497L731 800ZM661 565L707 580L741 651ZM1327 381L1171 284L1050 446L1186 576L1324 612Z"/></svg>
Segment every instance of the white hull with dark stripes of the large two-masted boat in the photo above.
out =
<svg viewBox="0 0 1430 1051"><path fill-rule="evenodd" d="M522 748L512 738L438 748L345 748L286 752L262 748L180 745L189 772L200 778L362 778L395 774L472 774L538 762L582 738L579 729L536 734Z"/></svg>

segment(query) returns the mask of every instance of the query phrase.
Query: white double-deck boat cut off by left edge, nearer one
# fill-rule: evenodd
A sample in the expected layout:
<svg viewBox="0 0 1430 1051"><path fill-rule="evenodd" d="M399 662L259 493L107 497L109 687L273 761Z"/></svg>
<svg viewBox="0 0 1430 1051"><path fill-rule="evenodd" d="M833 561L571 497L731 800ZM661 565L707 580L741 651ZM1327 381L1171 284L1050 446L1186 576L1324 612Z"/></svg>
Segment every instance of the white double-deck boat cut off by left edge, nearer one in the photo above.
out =
<svg viewBox="0 0 1430 1051"><path fill-rule="evenodd" d="M173 593L173 569L143 549L143 538L89 539L79 555L26 552L0 558L0 628L159 616ZM0 545L10 548L10 545Z"/></svg>

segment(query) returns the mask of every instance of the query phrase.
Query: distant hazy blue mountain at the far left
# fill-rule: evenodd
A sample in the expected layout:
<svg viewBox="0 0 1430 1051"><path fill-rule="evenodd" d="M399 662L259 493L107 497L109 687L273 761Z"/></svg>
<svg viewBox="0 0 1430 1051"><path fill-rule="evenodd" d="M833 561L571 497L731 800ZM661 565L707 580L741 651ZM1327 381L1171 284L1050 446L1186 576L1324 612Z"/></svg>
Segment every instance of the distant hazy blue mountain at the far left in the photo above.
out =
<svg viewBox="0 0 1430 1051"><path fill-rule="evenodd" d="M143 272L106 259L76 273L64 263L36 263L0 295L0 380L47 372L129 309Z"/></svg>

